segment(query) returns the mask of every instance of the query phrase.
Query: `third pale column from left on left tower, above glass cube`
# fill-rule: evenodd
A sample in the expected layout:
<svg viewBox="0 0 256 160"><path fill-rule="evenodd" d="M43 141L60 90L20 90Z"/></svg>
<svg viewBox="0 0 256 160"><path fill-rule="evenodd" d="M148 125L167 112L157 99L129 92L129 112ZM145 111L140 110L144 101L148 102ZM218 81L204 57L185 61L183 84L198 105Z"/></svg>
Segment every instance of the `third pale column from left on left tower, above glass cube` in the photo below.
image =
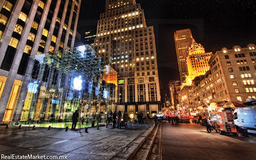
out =
<svg viewBox="0 0 256 160"><path fill-rule="evenodd" d="M34 56L34 55L37 54L37 51L38 51L38 48L39 48L39 43L40 43L41 37L42 37L42 31L44 31L44 28L45 28L46 19L47 19L47 16L48 16L48 12L49 12L51 3L52 3L52 0L48 0L46 2L44 12L42 12L40 24L39 24L39 27L38 27L38 30L37 30L37 33L36 33L36 37L35 37L35 40L34 40L33 48L32 48L32 51L31 51L31 56Z"/></svg>

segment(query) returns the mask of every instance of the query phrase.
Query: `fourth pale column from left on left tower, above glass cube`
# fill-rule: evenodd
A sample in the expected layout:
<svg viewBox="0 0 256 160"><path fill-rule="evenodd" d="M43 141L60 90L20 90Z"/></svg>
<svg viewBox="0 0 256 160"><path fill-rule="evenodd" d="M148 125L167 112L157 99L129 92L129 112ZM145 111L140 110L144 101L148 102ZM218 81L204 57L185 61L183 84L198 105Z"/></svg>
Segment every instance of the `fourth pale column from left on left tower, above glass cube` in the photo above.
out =
<svg viewBox="0 0 256 160"><path fill-rule="evenodd" d="M49 52L49 49L50 49L52 36L53 36L55 24L56 24L56 19L57 19L58 12L59 12L60 3L61 3L61 0L58 0L57 3L56 3L56 7L55 7L55 10L54 10L54 13L53 13L50 30L49 30L49 33L48 33L48 38L47 38L46 45L45 45L45 50L44 50L45 53Z"/></svg>

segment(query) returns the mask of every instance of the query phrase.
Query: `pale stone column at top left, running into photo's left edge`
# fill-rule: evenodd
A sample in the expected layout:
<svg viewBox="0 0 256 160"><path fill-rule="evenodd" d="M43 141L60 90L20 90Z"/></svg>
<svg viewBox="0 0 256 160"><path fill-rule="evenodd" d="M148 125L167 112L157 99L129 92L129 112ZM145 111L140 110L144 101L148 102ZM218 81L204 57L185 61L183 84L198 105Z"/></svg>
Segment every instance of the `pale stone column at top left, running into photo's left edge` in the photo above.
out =
<svg viewBox="0 0 256 160"><path fill-rule="evenodd" d="M2 64L2 62L4 60L6 50L8 48L10 39L12 37L12 33L16 26L16 22L18 20L18 17L19 17L20 11L22 10L24 2L25 2L25 0L20 0L20 1L18 1L18 3L15 3L12 13L8 19L7 24L6 24L6 29L2 35L2 39L0 40L0 51L1 51L0 52L0 64ZM0 102L1 102L1 100L0 100ZM1 115L1 113L0 113L0 115Z"/></svg>

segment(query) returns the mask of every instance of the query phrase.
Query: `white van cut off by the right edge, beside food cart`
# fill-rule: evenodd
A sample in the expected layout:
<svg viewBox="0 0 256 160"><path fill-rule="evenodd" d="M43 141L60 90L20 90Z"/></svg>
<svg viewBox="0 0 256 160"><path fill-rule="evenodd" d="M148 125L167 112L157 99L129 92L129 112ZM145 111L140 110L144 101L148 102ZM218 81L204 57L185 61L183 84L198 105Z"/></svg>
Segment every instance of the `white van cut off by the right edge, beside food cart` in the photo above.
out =
<svg viewBox="0 0 256 160"><path fill-rule="evenodd" d="M256 134L256 105L237 108L233 113L234 124L247 128L249 133Z"/></svg>

